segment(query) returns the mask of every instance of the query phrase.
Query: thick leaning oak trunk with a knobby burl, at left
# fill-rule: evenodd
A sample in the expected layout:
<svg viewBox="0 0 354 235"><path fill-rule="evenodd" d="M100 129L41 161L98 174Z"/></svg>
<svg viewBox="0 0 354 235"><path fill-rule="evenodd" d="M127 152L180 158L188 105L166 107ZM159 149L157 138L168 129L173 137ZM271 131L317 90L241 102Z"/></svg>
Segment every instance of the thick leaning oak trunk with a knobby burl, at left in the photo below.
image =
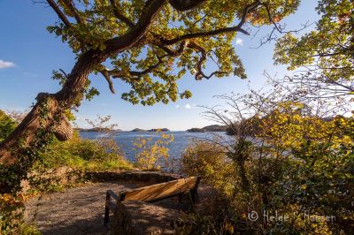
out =
<svg viewBox="0 0 354 235"><path fill-rule="evenodd" d="M78 60L64 87L57 94L37 95L34 108L12 134L0 143L0 163L9 165L16 162L19 148L33 146L36 133L40 129L55 133L59 140L71 137L72 128L63 112L72 108L73 104L81 99L89 72L97 62L100 62L89 63L85 58L83 56Z"/></svg>

